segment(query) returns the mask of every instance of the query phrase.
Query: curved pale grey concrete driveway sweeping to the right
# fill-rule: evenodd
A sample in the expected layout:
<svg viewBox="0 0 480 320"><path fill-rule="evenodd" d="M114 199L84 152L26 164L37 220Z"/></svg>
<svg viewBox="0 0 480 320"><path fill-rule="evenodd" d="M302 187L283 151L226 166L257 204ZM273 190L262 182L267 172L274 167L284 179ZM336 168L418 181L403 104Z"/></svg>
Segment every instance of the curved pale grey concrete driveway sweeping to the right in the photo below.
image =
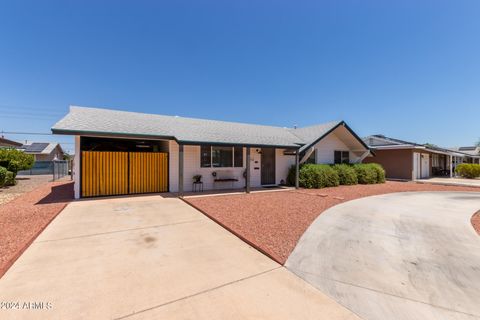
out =
<svg viewBox="0 0 480 320"><path fill-rule="evenodd" d="M480 193L396 193L333 207L286 267L363 319L480 319Z"/></svg>

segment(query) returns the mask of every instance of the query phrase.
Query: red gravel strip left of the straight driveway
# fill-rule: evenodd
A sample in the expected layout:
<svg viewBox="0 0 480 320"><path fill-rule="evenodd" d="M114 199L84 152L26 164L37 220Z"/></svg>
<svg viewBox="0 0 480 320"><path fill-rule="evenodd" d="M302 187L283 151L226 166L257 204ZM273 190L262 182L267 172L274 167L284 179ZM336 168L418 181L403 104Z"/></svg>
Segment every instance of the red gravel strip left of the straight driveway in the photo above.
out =
<svg viewBox="0 0 480 320"><path fill-rule="evenodd" d="M0 277L72 199L73 182L52 182L0 205Z"/></svg>

